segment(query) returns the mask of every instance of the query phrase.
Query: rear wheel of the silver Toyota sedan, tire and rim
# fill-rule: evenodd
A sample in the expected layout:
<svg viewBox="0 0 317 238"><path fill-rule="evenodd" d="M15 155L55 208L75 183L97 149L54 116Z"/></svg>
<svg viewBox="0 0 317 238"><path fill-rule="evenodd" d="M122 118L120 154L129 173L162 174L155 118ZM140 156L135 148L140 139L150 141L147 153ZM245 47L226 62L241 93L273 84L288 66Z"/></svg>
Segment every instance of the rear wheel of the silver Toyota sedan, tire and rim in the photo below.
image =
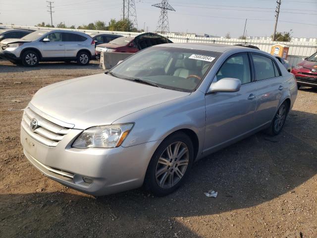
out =
<svg viewBox="0 0 317 238"><path fill-rule="evenodd" d="M282 105L278 108L266 132L272 136L278 135L282 131L282 128L285 124L287 114L288 114L288 104L287 102L283 102Z"/></svg>

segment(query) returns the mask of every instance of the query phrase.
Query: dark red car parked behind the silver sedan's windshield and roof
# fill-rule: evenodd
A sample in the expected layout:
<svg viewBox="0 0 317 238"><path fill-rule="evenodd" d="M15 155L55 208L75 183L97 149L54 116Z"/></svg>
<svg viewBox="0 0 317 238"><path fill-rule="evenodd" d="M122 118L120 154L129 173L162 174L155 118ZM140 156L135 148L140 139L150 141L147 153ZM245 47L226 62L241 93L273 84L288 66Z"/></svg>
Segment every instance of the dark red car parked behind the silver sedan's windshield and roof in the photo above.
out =
<svg viewBox="0 0 317 238"><path fill-rule="evenodd" d="M144 33L136 37L120 37L96 47L96 57L100 57L101 52L136 53L150 46L165 43L172 42L155 33Z"/></svg>

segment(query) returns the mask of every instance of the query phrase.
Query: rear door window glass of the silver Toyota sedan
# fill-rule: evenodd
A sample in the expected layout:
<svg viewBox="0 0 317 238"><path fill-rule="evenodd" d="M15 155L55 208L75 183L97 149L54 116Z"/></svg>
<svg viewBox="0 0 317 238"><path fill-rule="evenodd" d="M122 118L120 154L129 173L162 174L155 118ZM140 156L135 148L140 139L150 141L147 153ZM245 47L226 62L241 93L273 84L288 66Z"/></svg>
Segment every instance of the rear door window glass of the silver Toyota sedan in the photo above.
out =
<svg viewBox="0 0 317 238"><path fill-rule="evenodd" d="M252 54L252 58L257 81L275 77L275 64L273 64L273 61L270 58L255 54Z"/></svg>

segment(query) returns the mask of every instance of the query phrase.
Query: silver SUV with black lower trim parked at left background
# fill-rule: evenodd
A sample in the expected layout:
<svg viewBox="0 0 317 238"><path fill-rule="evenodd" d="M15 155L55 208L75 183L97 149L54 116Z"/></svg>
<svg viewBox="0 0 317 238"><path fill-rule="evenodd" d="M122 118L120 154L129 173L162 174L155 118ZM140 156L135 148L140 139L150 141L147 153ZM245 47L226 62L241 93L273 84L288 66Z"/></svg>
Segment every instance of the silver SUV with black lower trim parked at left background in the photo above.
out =
<svg viewBox="0 0 317 238"><path fill-rule="evenodd" d="M40 30L0 42L0 56L25 66L40 61L77 61L86 65L95 57L95 41L89 35L66 30Z"/></svg>

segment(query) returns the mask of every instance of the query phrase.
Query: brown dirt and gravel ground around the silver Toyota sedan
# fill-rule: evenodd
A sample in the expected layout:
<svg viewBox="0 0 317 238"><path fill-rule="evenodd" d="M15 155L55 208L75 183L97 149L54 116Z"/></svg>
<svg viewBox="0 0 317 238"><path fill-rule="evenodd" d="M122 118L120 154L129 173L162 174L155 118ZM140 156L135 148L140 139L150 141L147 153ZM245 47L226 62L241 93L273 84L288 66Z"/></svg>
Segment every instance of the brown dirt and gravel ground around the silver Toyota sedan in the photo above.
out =
<svg viewBox="0 0 317 238"><path fill-rule="evenodd" d="M199 161L166 197L96 199L44 177L23 155L19 110L41 87L102 72L97 61L0 61L1 238L317 238L317 89L299 91L280 135L260 132Z"/></svg>

